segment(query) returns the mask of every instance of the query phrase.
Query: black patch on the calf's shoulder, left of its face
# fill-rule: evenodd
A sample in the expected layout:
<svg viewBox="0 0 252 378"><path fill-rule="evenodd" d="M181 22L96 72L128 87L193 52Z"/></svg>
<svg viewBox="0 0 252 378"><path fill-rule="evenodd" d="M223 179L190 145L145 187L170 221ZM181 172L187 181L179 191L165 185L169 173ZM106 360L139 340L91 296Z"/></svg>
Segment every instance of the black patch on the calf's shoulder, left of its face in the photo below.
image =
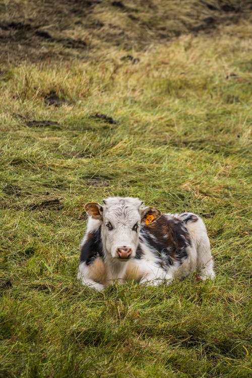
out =
<svg viewBox="0 0 252 378"><path fill-rule="evenodd" d="M90 265L97 257L103 257L101 227L87 235L86 240L81 247L80 261L82 263L86 262L87 265Z"/></svg>

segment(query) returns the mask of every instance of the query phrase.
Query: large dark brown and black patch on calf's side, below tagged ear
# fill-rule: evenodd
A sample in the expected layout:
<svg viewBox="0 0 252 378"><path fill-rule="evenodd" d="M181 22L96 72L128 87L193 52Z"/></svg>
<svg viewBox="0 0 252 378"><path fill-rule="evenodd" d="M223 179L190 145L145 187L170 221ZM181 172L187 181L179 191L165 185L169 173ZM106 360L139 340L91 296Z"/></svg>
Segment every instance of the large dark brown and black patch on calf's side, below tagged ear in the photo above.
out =
<svg viewBox="0 0 252 378"><path fill-rule="evenodd" d="M167 219L163 214L156 221L144 226L143 237L158 251L160 257L162 254L166 265L187 258L186 248L191 246L183 221L177 218Z"/></svg>

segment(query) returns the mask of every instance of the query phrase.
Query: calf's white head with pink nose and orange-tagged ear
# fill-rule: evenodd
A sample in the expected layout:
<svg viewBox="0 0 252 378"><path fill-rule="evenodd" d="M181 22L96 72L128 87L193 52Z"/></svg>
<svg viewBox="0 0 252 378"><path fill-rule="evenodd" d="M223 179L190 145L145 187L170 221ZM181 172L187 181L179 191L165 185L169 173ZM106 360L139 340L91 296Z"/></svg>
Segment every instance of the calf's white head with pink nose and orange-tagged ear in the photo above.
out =
<svg viewBox="0 0 252 378"><path fill-rule="evenodd" d="M152 207L142 208L143 202L138 198L110 197L103 203L90 202L85 210L90 217L101 221L104 253L127 261L136 256L141 222L148 224L161 213Z"/></svg>

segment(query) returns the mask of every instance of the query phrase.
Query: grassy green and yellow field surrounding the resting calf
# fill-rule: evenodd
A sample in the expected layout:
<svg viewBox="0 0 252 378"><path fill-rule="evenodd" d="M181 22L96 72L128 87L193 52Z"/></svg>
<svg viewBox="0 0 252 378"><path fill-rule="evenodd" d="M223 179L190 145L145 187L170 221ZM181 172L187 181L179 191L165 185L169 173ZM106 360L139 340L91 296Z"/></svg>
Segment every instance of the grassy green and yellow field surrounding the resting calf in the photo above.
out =
<svg viewBox="0 0 252 378"><path fill-rule="evenodd" d="M251 376L249 2L0 11L0 377ZM81 286L115 195L200 214L216 280Z"/></svg>

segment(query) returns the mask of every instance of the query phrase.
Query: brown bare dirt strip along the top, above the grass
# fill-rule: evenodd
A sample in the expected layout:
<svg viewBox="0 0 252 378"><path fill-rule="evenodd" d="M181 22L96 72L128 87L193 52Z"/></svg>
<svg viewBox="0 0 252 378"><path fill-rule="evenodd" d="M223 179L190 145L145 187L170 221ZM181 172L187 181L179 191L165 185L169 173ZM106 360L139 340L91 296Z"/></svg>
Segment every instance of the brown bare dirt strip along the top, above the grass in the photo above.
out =
<svg viewBox="0 0 252 378"><path fill-rule="evenodd" d="M178 4L179 3L179 4ZM0 70L20 62L100 59L107 48L146 50L183 33L216 33L251 20L247 0L199 2L0 1ZM129 54L127 54L129 51Z"/></svg>

